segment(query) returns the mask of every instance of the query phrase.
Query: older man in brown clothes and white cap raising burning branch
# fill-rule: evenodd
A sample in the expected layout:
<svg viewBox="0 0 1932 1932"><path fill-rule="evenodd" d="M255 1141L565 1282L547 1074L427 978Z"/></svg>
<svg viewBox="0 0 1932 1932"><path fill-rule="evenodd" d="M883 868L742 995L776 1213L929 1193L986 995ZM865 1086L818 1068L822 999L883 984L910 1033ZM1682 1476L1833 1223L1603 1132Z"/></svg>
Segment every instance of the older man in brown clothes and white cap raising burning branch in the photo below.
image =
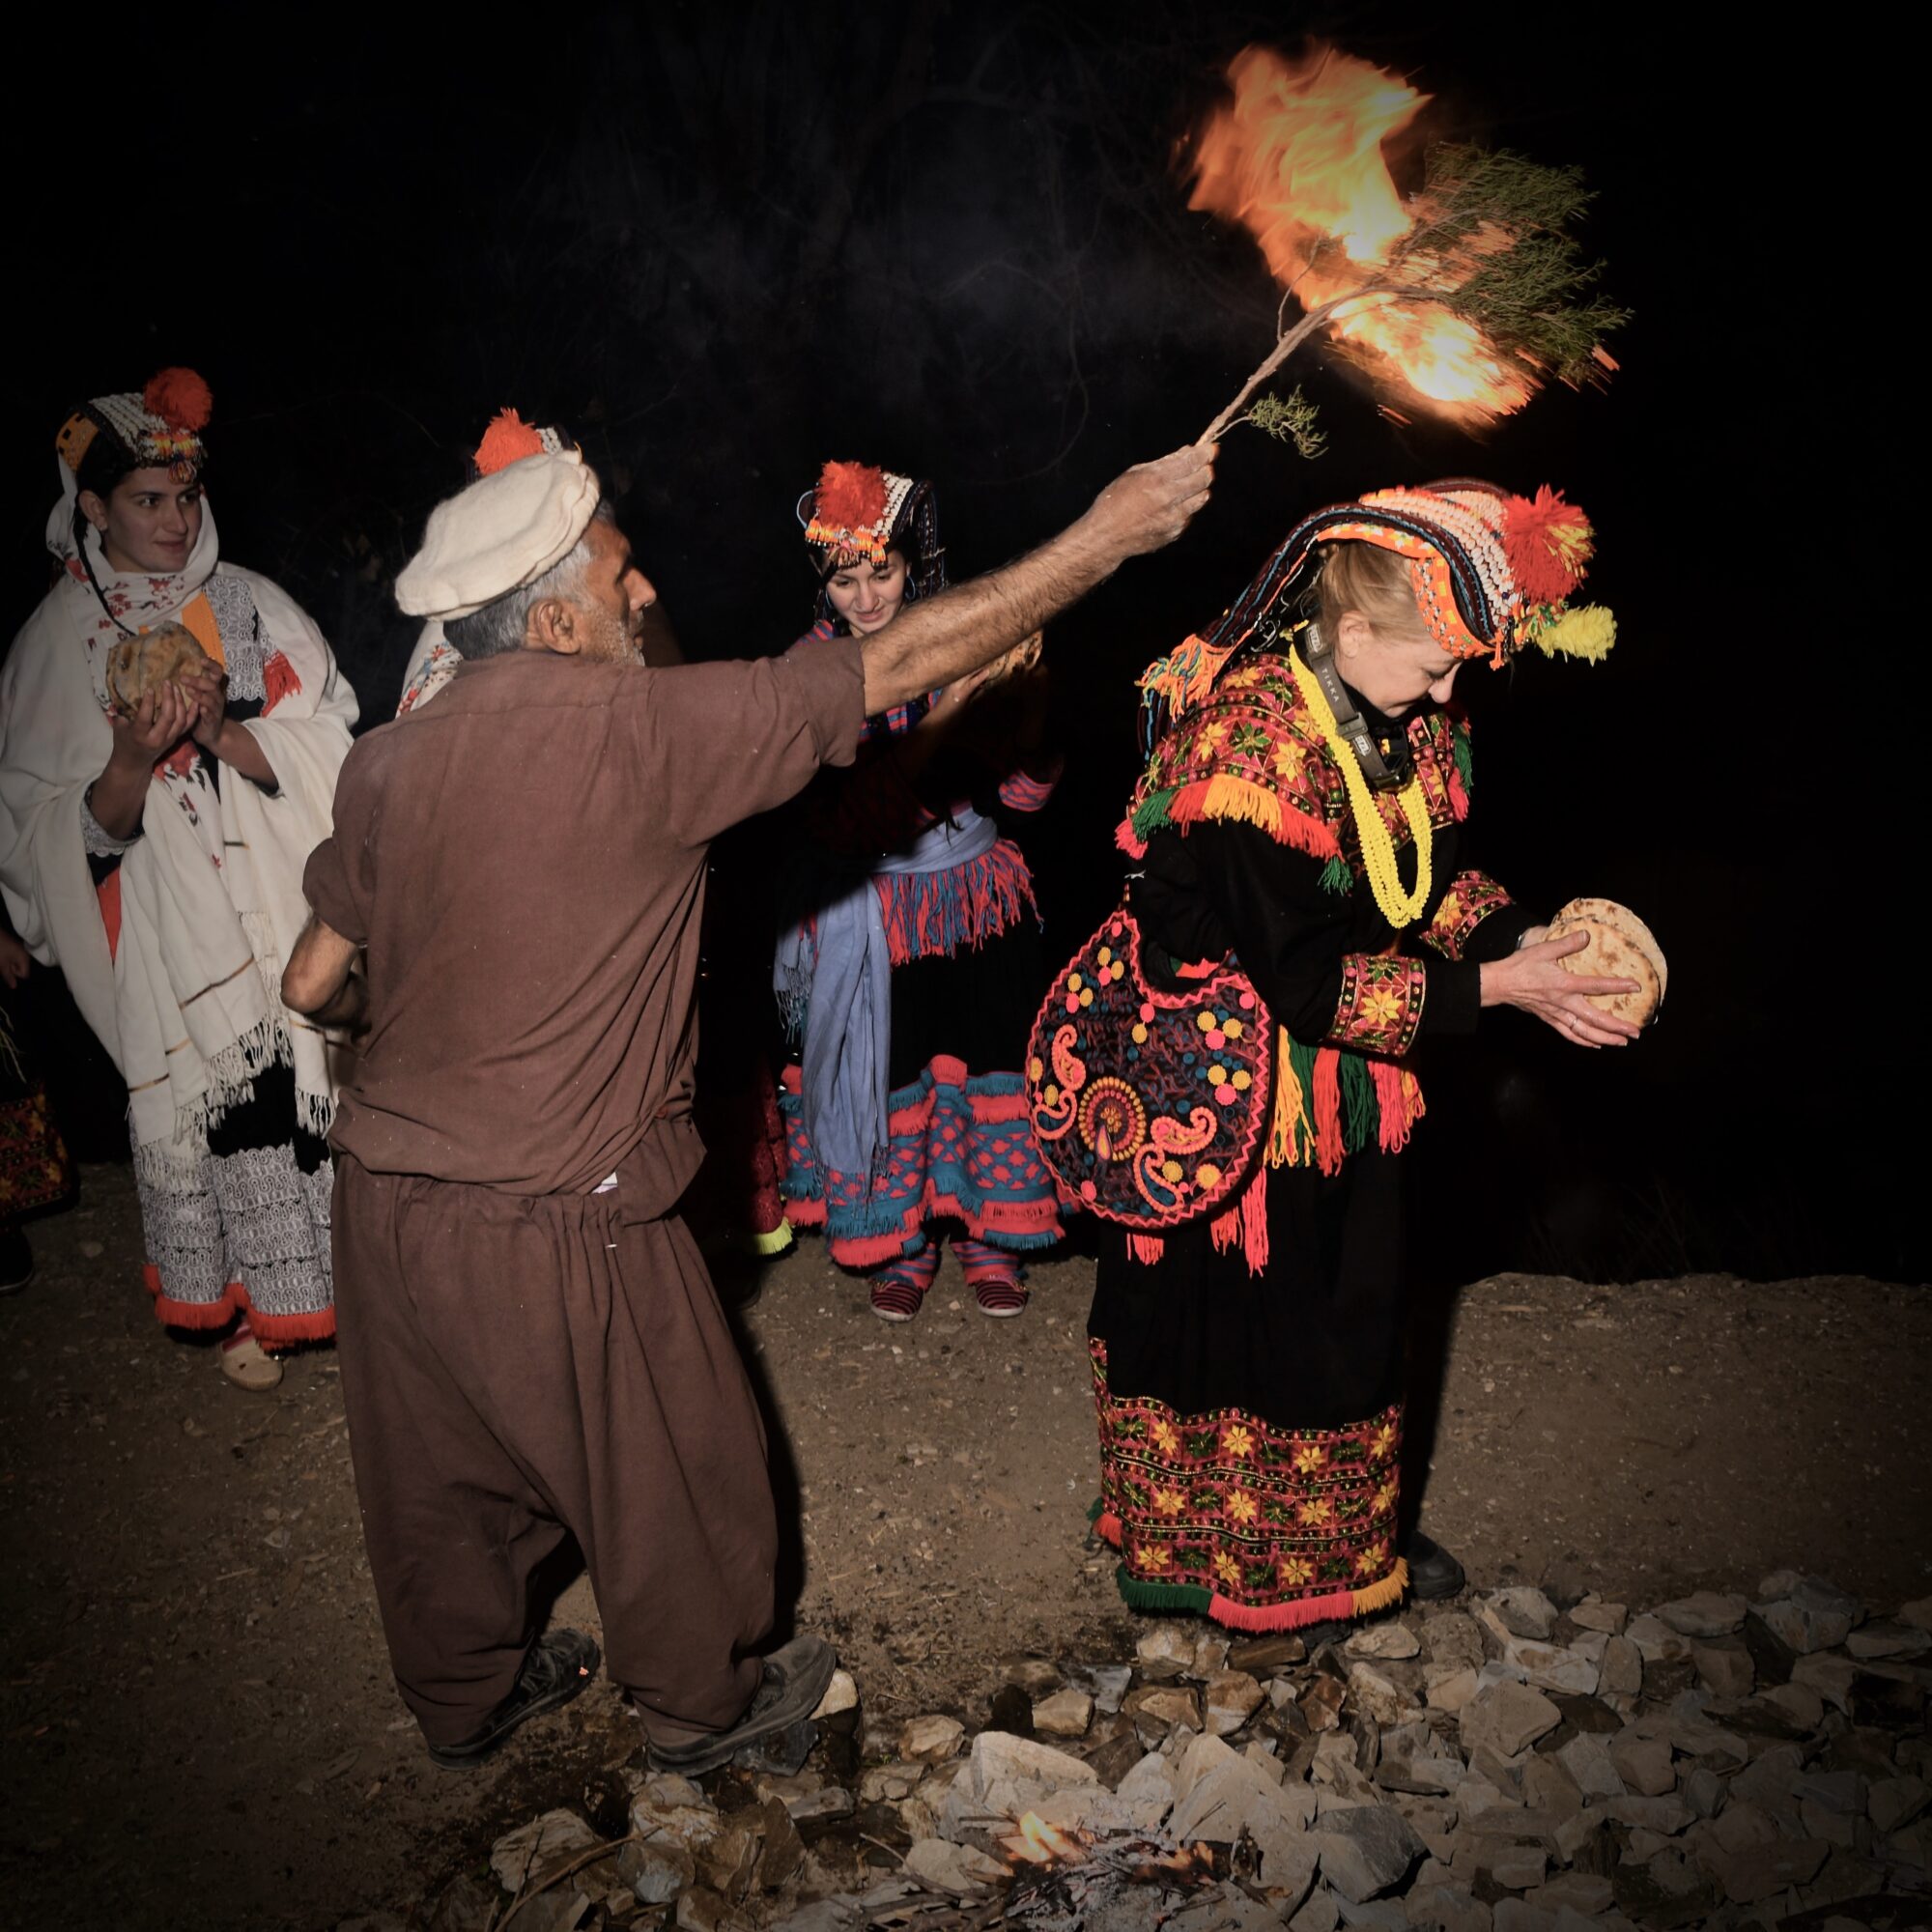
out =
<svg viewBox="0 0 1932 1932"><path fill-rule="evenodd" d="M431 518L398 601L466 663L350 753L284 997L367 1009L332 1136L342 1393L390 1658L437 1762L477 1762L595 1669L587 1636L535 1640L531 1575L566 1534L653 1762L705 1770L823 1694L819 1638L757 1654L765 1437L676 1215L701 1155L705 842L850 761L867 713L1171 541L1209 466L1128 471L873 638L678 668L638 661L655 593L576 456Z"/></svg>

